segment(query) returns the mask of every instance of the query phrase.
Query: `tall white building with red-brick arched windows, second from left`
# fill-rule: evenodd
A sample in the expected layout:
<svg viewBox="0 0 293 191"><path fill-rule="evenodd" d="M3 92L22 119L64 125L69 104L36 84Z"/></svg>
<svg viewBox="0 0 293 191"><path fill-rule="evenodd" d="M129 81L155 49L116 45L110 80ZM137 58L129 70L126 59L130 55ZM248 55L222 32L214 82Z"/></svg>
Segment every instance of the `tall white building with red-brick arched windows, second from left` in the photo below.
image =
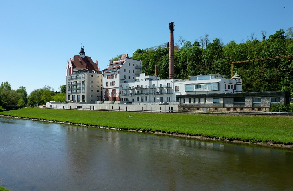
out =
<svg viewBox="0 0 293 191"><path fill-rule="evenodd" d="M141 74L142 61L129 58L123 54L117 61L109 61L108 68L103 70L103 100L113 103L122 99L122 83L135 82Z"/></svg>

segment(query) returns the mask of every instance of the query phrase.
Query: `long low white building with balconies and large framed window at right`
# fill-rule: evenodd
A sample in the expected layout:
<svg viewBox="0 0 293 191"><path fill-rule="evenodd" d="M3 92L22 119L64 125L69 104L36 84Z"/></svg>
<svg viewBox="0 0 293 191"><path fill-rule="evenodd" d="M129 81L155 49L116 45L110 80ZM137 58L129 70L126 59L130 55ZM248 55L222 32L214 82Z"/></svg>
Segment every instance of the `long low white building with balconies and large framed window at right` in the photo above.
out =
<svg viewBox="0 0 293 191"><path fill-rule="evenodd" d="M209 74L190 76L190 80L178 80L160 79L159 77L140 74L135 78L135 82L120 83L121 101L156 104L163 101L180 102L180 100L176 99L176 95L240 93L242 91L240 76L234 79L224 77L226 76ZM188 101L193 103L213 103L210 98L196 98ZM220 98L219 101L223 102L223 99Z"/></svg>

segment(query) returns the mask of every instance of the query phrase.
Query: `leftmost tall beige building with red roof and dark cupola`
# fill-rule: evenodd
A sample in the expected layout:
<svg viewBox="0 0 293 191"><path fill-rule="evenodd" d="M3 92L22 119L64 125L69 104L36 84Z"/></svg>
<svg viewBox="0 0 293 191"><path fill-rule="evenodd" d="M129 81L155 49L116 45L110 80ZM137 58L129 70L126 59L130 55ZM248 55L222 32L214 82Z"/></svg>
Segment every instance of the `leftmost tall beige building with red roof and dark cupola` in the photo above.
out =
<svg viewBox="0 0 293 191"><path fill-rule="evenodd" d="M102 100L103 74L98 61L85 56L82 47L79 55L67 60L66 65L66 101L96 103Z"/></svg>

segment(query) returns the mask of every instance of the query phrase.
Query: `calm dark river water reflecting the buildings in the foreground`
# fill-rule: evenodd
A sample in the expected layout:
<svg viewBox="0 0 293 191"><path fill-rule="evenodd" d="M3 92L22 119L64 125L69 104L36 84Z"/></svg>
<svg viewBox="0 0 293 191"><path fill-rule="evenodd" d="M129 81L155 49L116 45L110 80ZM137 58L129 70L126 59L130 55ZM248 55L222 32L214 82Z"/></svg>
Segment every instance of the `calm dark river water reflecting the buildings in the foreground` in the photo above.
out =
<svg viewBox="0 0 293 191"><path fill-rule="evenodd" d="M293 152L0 117L9 190L292 190Z"/></svg>

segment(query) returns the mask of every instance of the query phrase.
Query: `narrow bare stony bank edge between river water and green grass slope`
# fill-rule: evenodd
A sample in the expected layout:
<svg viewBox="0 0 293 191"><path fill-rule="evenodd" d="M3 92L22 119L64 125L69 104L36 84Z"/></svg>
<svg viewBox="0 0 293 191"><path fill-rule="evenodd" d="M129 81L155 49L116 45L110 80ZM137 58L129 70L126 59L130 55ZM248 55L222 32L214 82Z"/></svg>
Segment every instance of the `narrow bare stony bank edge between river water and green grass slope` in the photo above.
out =
<svg viewBox="0 0 293 191"><path fill-rule="evenodd" d="M84 126L84 127L93 127L93 128L100 128L100 129L111 129L111 130L118 130L118 131L130 131L130 132L142 132L142 133L152 133L152 134L159 134L159 135L166 135L166 136L172 136L172 137L182 137L182 138L191 138L191 139L198 139L198 140L209 140L209 141L220 141L220 142L227 142L227 143L232 143L232 144L246 144L246 145L258 145L258 146L266 146L269 148L284 148L284 149L293 149L293 145L285 145L285 144L277 144L277 143L272 143L270 141L266 143L251 143L251 142L244 142L244 141L239 141L239 140L227 140L227 139L213 139L209 137L205 137L203 135L201 136L195 136L195 135L188 135L188 134L176 134L176 133L163 133L163 132L158 132L158 131L137 131L133 129L119 129L119 128L114 128L114 127L102 127L102 126L96 126L96 125L85 125L85 124L76 124L76 123L69 123L69 122L59 122L59 121L53 121L53 120L40 120L40 119L35 119L35 118L28 118L28 117L15 117L15 116L10 116L10 115L2 115L0 116L3 117L11 117L11 118L18 118L18 119L26 119L26 120L33 120L33 121L43 121L43 122L53 122L53 123L61 123L61 124L67 124L67 125L79 125L79 126Z"/></svg>

